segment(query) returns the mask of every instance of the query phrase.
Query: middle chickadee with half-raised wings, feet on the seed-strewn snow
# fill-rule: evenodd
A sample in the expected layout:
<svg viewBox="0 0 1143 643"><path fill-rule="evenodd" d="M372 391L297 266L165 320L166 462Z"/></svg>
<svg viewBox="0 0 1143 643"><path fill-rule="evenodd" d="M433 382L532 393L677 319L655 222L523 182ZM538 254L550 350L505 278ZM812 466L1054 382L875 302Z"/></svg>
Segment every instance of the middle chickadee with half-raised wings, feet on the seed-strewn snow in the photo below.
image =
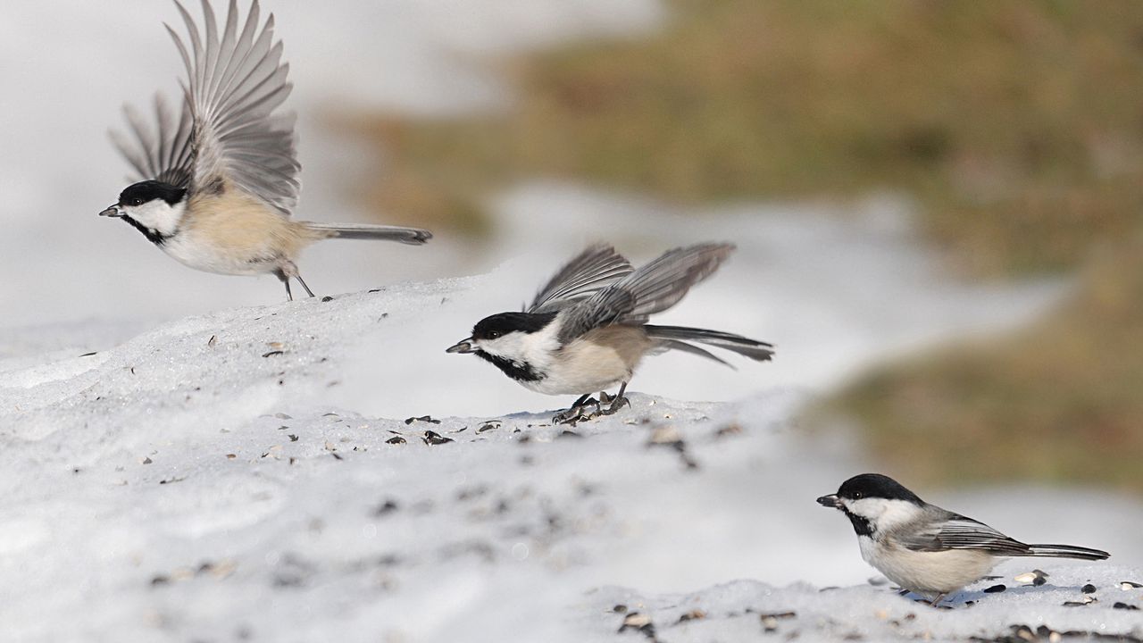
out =
<svg viewBox="0 0 1143 643"><path fill-rule="evenodd" d="M481 319L472 336L448 352L471 352L493 363L521 386L547 395L581 395L554 422L585 419L594 405L609 415L628 399L628 382L645 355L682 350L726 364L688 342L700 342L758 362L770 359L774 347L742 335L652 326L650 315L682 299L692 286L712 275L730 255L729 244L676 248L634 270L607 245L591 246L555 273L523 312L501 312ZM621 384L614 398L600 392Z"/></svg>

